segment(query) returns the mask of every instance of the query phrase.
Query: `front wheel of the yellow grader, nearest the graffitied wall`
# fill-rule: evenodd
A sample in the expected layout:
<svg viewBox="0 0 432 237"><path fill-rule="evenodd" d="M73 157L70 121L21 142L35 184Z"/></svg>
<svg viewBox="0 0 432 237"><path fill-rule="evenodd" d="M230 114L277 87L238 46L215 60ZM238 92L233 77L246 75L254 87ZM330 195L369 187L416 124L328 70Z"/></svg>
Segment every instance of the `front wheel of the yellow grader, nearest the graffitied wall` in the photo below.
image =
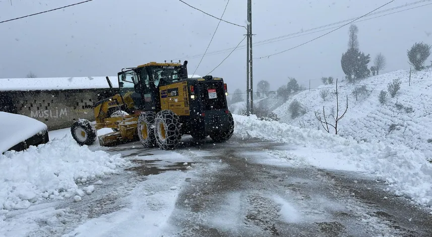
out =
<svg viewBox="0 0 432 237"><path fill-rule="evenodd" d="M72 137L80 145L91 145L96 141L97 131L87 119L79 119L72 124Z"/></svg>

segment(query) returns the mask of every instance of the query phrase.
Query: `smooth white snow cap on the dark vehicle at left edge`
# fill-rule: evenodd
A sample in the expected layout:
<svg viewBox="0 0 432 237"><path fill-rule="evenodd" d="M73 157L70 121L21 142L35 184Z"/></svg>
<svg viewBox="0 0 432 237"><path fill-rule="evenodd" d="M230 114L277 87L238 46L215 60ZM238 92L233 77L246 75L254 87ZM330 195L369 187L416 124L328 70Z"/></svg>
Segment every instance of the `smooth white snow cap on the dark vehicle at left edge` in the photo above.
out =
<svg viewBox="0 0 432 237"><path fill-rule="evenodd" d="M12 146L48 130L46 125L30 117L0 112L0 154Z"/></svg>

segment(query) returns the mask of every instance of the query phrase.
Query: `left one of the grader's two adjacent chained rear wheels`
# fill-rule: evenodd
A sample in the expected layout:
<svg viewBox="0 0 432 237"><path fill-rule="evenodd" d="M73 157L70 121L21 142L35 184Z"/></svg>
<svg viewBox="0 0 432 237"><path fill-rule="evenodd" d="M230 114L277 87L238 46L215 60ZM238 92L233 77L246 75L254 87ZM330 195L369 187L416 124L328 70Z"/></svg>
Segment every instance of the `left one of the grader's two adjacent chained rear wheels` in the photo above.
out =
<svg viewBox="0 0 432 237"><path fill-rule="evenodd" d="M154 119L154 112L141 113L138 118L138 137L144 147L154 147L156 145Z"/></svg>

